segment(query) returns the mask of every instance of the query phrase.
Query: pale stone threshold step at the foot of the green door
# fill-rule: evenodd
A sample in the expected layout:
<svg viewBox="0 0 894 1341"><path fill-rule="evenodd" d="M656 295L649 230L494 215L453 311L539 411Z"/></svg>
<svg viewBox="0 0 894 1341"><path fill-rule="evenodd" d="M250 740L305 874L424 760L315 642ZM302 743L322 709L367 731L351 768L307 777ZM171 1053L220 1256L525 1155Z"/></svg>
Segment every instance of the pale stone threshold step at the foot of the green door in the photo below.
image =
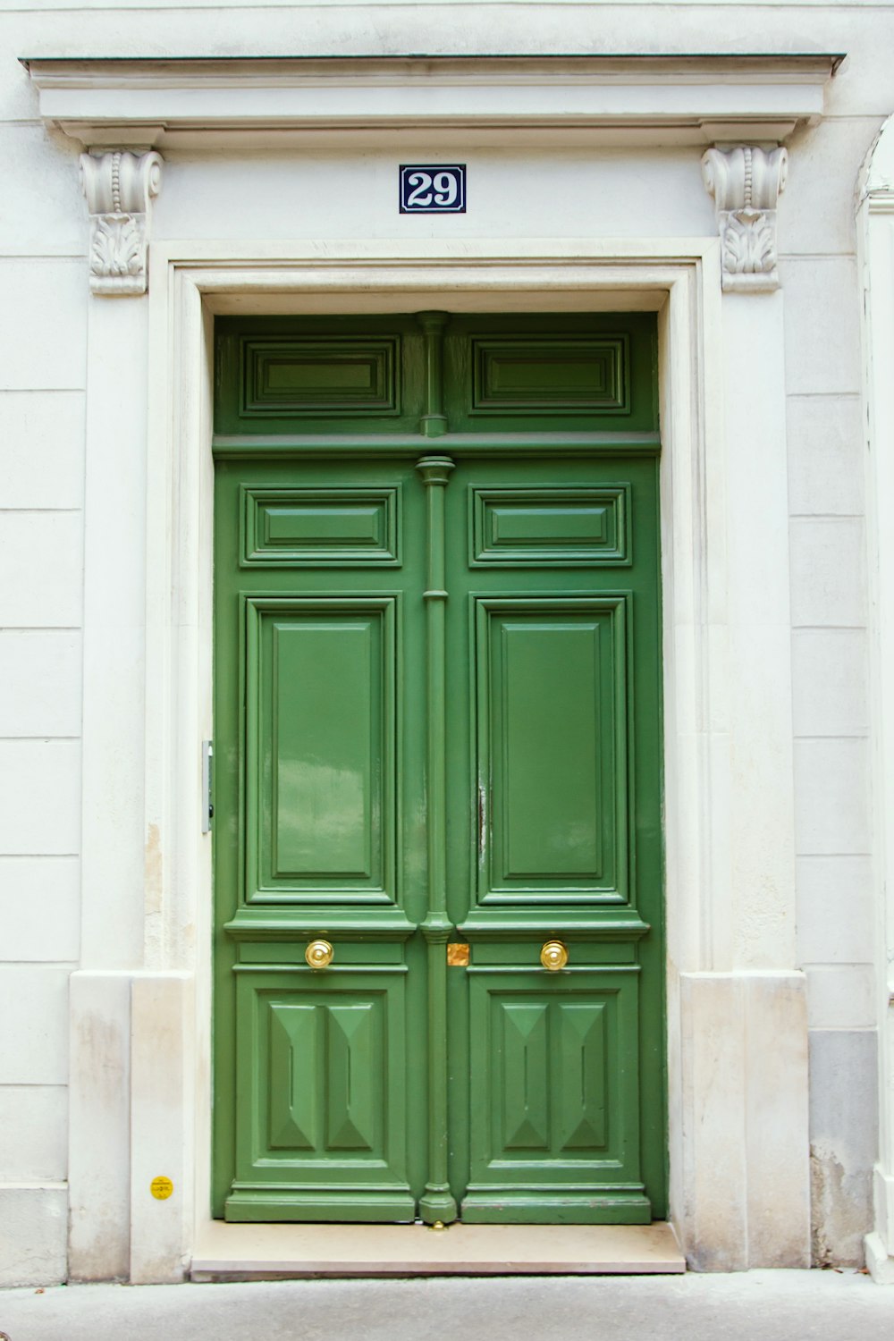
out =
<svg viewBox="0 0 894 1341"><path fill-rule="evenodd" d="M677 1236L654 1224L202 1226L193 1281L300 1277L677 1274Z"/></svg>

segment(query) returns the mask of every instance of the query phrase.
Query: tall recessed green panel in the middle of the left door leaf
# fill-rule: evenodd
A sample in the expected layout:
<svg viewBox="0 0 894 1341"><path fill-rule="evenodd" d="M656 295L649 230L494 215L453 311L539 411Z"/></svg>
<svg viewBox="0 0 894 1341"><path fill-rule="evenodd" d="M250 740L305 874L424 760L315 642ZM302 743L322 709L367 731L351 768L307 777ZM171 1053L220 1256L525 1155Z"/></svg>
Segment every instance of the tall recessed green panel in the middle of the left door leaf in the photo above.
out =
<svg viewBox="0 0 894 1341"><path fill-rule="evenodd" d="M247 603L248 901L394 898L394 599Z"/></svg>

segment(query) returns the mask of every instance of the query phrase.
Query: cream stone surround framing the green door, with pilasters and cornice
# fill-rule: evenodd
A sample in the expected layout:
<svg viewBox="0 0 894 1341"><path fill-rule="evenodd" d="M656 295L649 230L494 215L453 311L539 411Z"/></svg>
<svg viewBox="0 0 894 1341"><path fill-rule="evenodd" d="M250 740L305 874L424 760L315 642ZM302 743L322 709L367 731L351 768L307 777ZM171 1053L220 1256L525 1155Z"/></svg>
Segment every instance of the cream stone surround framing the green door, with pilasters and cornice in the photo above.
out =
<svg viewBox="0 0 894 1341"><path fill-rule="evenodd" d="M260 75L240 82L231 71L227 84L220 71L190 75L188 64L180 63L177 86L161 70L153 84L151 63L139 80L133 70L91 63L32 68L50 123L119 154L117 169L99 157L95 169L87 165L94 236L106 239L101 255L91 251L94 280L102 280L94 290L111 296L97 296L90 310L86 508L94 524L84 957L71 984L72 1277L181 1279L209 1216L210 843L201 833L200 744L210 735L213 318L425 307L659 314L672 1218L696 1267L807 1266L784 295L773 217L785 154L771 146L819 115L832 63L772 58L761 67L749 58L712 75L702 62L700 82L685 62L642 60L637 78L603 67L600 83L592 70L588 82L575 82L580 71L556 75L555 64L544 71L531 62L527 83L515 70L500 87L503 75L481 67L444 80L454 129L457 107L466 106L474 126L513 148L582 130L618 143L634 133L720 142L705 156L720 239L503 240L485 220L481 236L462 241L332 243L320 233L295 244L216 243L209 220L208 239L150 239L146 274L155 148L225 141L251 117L255 135L281 133L300 146L326 130L330 143L357 148L366 133L358 138L358 107L369 111L370 99L379 133L399 143L401 127L426 106L418 98L426 72L407 67L403 83L394 71L366 83L343 72L340 93L327 84L315 111L319 79L308 97L292 70L280 75L285 102L276 103L273 125ZM495 89L504 109L507 89L515 90L511 125L500 130L488 102ZM556 90L578 99L566 98L564 130ZM693 189L701 189L698 157ZM122 165L135 193L129 198ZM115 251L127 235L134 245ZM115 260L122 255L126 264ZM146 278L149 294L139 296ZM135 611L123 634L122 609ZM95 1085L98 1055L109 1085ZM166 1200L149 1192L158 1175L174 1183Z"/></svg>

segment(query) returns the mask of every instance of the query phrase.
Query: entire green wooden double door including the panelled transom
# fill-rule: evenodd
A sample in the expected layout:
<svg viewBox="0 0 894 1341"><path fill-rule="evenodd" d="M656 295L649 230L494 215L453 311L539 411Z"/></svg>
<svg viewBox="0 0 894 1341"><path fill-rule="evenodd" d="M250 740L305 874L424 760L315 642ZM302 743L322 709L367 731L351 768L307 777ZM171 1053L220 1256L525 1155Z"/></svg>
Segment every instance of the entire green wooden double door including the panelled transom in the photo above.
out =
<svg viewBox="0 0 894 1341"><path fill-rule="evenodd" d="M217 1215L665 1214L654 338L220 323Z"/></svg>

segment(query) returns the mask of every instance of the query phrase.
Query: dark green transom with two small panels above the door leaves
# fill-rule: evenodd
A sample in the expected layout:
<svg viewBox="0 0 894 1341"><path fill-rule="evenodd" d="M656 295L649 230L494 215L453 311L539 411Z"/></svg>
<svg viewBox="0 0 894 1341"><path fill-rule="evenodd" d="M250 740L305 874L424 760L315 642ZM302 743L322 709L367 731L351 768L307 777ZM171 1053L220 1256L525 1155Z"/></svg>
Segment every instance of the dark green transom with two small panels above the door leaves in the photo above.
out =
<svg viewBox="0 0 894 1341"><path fill-rule="evenodd" d="M649 312L222 318L216 357L214 430L243 447L322 433L330 452L339 437L374 451L410 434L623 443L658 429Z"/></svg>

